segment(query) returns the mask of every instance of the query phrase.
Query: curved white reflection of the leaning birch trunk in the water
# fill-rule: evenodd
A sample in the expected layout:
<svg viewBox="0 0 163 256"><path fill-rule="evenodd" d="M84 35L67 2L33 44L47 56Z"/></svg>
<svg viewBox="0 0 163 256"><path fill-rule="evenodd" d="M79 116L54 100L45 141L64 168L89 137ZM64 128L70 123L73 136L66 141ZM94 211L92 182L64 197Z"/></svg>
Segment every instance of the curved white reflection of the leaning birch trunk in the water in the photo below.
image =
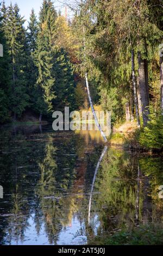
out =
<svg viewBox="0 0 163 256"><path fill-rule="evenodd" d="M103 160L103 157L106 154L107 150L108 150L108 147L105 146L104 149L103 149L102 155L101 155L100 159L98 160L96 170L95 170L95 175L93 177L93 182L92 182L92 187L91 187L91 194L90 194L90 201L89 201L89 216L88 216L89 225L91 223L91 205L92 205L92 196L93 196L93 190L94 190L94 187L95 187L96 176L97 176L97 172L98 172L98 169L99 169L99 165L101 164L101 161Z"/></svg>

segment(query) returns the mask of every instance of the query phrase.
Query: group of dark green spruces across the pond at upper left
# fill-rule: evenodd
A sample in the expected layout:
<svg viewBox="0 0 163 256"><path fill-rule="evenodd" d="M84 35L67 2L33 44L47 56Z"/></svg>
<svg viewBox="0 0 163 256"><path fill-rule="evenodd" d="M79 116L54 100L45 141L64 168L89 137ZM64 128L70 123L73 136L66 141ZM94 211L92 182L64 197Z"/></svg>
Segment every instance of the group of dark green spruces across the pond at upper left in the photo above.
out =
<svg viewBox="0 0 163 256"><path fill-rule="evenodd" d="M28 30L17 4L5 7L3 2L0 17L4 47L4 58L0 59L0 122L10 116L16 121L30 109L40 117L65 106L74 110L74 69L66 46L56 44L57 11L53 3L43 0L39 22L32 9Z"/></svg>

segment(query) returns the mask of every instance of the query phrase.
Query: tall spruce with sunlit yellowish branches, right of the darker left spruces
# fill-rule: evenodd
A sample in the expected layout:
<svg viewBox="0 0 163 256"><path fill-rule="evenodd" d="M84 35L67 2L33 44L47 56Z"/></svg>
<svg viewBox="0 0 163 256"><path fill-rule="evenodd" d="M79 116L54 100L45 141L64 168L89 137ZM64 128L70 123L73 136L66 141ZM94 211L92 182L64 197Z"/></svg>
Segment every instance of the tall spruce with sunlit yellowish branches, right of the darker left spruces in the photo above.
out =
<svg viewBox="0 0 163 256"><path fill-rule="evenodd" d="M42 115L53 111L52 101L55 98L53 72L54 48L53 35L57 13L51 1L43 1L39 17L39 34L37 36L36 65L38 68L37 100L35 110Z"/></svg>

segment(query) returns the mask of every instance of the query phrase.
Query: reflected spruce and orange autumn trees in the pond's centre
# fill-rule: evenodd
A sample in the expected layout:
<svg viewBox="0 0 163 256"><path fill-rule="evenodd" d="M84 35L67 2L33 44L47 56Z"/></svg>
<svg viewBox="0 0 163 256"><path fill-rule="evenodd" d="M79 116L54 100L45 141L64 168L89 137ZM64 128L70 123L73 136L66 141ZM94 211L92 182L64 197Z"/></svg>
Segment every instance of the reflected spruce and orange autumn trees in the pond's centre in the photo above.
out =
<svg viewBox="0 0 163 256"><path fill-rule="evenodd" d="M88 204L84 196L84 193L90 192L85 190L85 179L89 175L87 163L89 162L91 174L89 180L92 181L92 169L95 169L98 161L97 153L101 153L100 148L95 150L93 145L89 146L85 148L83 139L77 136L62 141L57 147L51 138L46 144L45 158L39 163L40 181L37 184L36 195L41 205L42 222L45 224L51 244L57 244L62 229L71 227L74 215L81 224L81 213L84 213L87 220ZM35 215L38 214L35 211ZM39 223L37 221L37 230L40 227Z"/></svg>

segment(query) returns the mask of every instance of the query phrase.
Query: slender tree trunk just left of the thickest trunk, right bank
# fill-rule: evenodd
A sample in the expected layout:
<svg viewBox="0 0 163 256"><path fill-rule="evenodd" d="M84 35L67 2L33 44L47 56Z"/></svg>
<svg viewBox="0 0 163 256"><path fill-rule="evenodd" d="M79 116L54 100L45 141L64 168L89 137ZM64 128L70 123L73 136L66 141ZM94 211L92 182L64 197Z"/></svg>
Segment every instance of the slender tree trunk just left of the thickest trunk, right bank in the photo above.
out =
<svg viewBox="0 0 163 256"><path fill-rule="evenodd" d="M140 115L139 115L139 106L137 100L137 89L136 89L136 75L135 75L135 56L134 50L131 50L131 64L132 64L132 73L133 73L133 89L134 89L134 105L136 109L136 120L137 126L140 127Z"/></svg>

